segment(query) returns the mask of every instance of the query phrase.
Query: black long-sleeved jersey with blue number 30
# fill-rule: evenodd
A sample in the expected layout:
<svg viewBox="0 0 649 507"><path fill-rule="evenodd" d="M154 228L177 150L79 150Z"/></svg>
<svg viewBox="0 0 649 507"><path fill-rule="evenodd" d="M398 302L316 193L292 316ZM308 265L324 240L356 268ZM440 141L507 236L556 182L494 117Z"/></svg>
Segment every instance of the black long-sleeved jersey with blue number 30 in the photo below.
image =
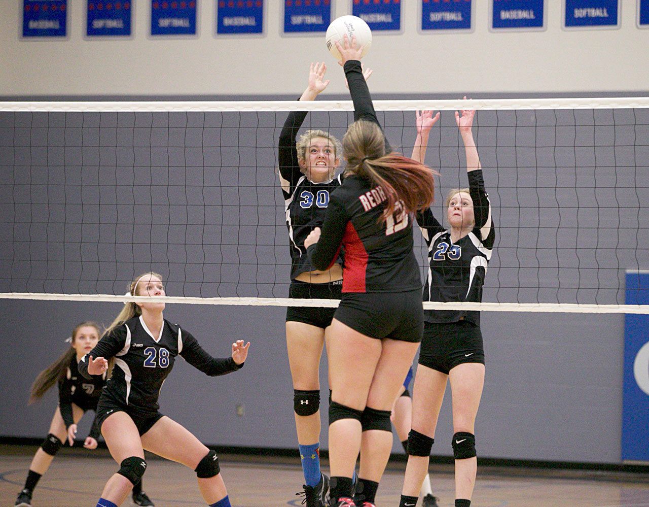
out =
<svg viewBox="0 0 649 507"><path fill-rule="evenodd" d="M315 227L322 226L330 193L341 183L341 175L330 181L313 183L300 171L296 137L306 114L306 111L289 112L278 146L280 183L290 240L291 280L301 273L315 270L306 255L304 240Z"/></svg>

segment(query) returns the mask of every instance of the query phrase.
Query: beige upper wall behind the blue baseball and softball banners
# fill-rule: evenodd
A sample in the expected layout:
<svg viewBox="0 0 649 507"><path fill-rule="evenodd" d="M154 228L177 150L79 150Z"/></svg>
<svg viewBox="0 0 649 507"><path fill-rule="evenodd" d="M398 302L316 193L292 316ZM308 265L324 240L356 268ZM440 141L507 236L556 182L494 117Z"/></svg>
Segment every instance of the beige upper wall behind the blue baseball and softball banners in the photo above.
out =
<svg viewBox="0 0 649 507"><path fill-rule="evenodd" d="M2 3L21 4L18 0ZM263 38L215 38L214 0L200 0L199 38L151 40L150 0L136 0L131 40L84 40L86 0L70 0L67 40L19 40L18 6L0 17L0 94L179 95L301 92L308 64L324 60L330 92L343 74L324 36L280 36L280 1L268 0ZM470 34L419 34L417 1L403 0L404 32L375 34L365 62L384 94L642 92L649 90L649 29L636 27L636 0L622 3L617 30L564 31L561 0L548 0L543 32L489 32L489 1L475 0ZM337 0L336 16L349 14Z"/></svg>

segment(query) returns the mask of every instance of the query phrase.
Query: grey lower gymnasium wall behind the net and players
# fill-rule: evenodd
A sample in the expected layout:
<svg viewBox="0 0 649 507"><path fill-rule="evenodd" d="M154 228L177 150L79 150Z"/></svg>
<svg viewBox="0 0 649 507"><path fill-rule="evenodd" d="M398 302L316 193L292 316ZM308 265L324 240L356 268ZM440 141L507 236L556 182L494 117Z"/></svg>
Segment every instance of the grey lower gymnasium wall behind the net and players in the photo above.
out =
<svg viewBox="0 0 649 507"><path fill-rule="evenodd" d="M532 117L515 112L478 112L476 139L498 235L487 272L485 301L535 302L538 298L543 302L623 302L623 276L607 268L646 268L649 258L644 227L649 210L645 206L638 211L641 203L649 201L649 188L634 183L642 181L641 174L646 172L646 166L640 164L646 160L647 148L634 148L632 142L634 133L640 139L646 130L642 126L648 123L646 112L618 111L615 127L607 111L582 111L576 118L572 112L554 114L539 112ZM198 149L204 159L197 166L196 148L184 148L182 142L178 146L176 141L190 142L195 132L186 128L188 125L212 125L219 114L202 116L109 113L101 116L103 134L99 135L96 127L100 118L95 113L0 114L5 133L0 146L0 158L5 161L0 167L3 216L15 217L13 225L0 231L0 256L23 259L3 264L0 292L25 290L25 279L31 279L27 284L31 291L45 287L49 292L88 293L96 288L123 294L125 287L114 285L114 279L126 279L132 269L139 272L153 266L165 276L167 292L173 295L256 295L259 290L271 291L262 295L285 296L288 239L273 172L278 128L223 129L219 139L222 148ZM254 114L243 116L242 123L248 125L250 116L256 118ZM327 120L315 114L309 118L320 118L321 125ZM79 127L81 119L83 127ZM261 115L258 121L268 119ZM281 123L284 114L278 114L277 119ZM343 119L337 118L334 130L338 135ZM528 124L532 119L538 123L535 127ZM404 122L405 129L395 126L399 125L397 120ZM639 123L636 127L634 120ZM151 134L145 128L144 133L131 137L119 135L117 127L111 126L119 122L162 128ZM552 122L563 126L540 126ZM595 128L594 122L607 126ZM413 130L411 119L392 113L384 123L392 125L386 131L393 146L403 143L406 149L409 129ZM444 114L438 127L432 133L427 160L441 172L438 195L443 195L448 188L461 186L466 176L452 114ZM121 128L131 131L129 126ZM531 139L527 136L530 129L534 131ZM55 147L12 146L29 146L30 140L40 144L45 131L45 138L53 144L65 134L70 145L77 144L75 139L83 131L84 140L92 146L82 151L81 162L73 147L61 153ZM593 149L595 132L602 148ZM113 135L126 140L123 148L115 148ZM99 147L94 146L98 138ZM129 146L130 140L141 139L151 140L155 146L136 150ZM535 142L537 149L512 149L512 142L521 146ZM237 146L241 148L234 148ZM615 160L611 159L611 146L615 146ZM129 163L136 167L124 161L117 165L115 157L129 152L136 157L136 162ZM182 156L188 158L178 163ZM23 170L16 171L14 164ZM201 164L210 168L203 171ZM183 181L193 184L201 178L208 186L178 185ZM84 182L82 190L79 182ZM114 183L126 186L116 188ZM162 187L151 187L151 183ZM65 185L68 187L63 191ZM62 200L65 206L60 204ZM435 205L437 216L443 213L441 201L438 199ZM191 213L191 223L197 225L181 226L178 236L178 227L169 225L190 220L190 209L196 209L197 204L198 213ZM98 216L100 227L75 225L80 218L92 223ZM43 224L46 218L47 226ZM136 218L141 225L129 225ZM31 226L32 220L40 224ZM620 227L620 220L624 227ZM151 223L156 226L146 226ZM221 228L222 224L230 227ZM246 224L256 224L252 227L254 235ZM45 245L34 242L47 238L51 241ZM254 247L265 239L273 244L273 238L275 248ZM76 243L79 239L86 242L84 248ZM167 244L171 239L174 244ZM417 231L415 241L421 246ZM66 242L65 249L62 242ZM210 246L219 242L238 247ZM576 244L579 252L574 250ZM421 259L421 248L417 253ZM205 266L201 255L206 255ZM24 260L29 258L34 262ZM51 262L36 261L43 258ZM62 259L67 264L60 262ZM238 259L256 265L239 266ZM84 261L81 270L80 260ZM552 267L559 263L561 269ZM84 281L79 282L79 278ZM260 283L274 280L277 285L271 284L270 289L269 285L233 285L233 279ZM56 406L55 393L28 407L29 385L64 350L64 339L76 322L93 318L109 324L118 311L117 304L0 300L0 435L38 437L47 432ZM232 341L239 338L251 340L252 348L243 370L219 378L207 378L184 361L177 361L162 389L162 412L185 424L206 443L293 447L293 396L284 312L278 307L169 305L165 317L191 331L212 354L226 356ZM482 321L487 376L476 425L480 456L619 463L623 317L484 312ZM326 400L324 367L321 385L322 399ZM242 417L236 414L239 404L245 408ZM447 398L439 419L435 454L452 455L452 433ZM396 440L394 449L402 452Z"/></svg>

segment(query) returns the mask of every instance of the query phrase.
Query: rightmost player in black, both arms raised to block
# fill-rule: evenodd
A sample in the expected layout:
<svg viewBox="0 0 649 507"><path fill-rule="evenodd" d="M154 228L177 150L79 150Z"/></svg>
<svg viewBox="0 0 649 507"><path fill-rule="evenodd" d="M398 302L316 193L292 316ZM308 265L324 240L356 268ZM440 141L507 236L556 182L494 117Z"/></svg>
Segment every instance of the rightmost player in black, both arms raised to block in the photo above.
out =
<svg viewBox="0 0 649 507"><path fill-rule="evenodd" d="M445 207L450 230L437 221L430 209L417 216L428 244L430 269L423 292L426 301L482 301L495 229L471 131L474 115L471 109L455 114L465 146L469 188L455 188L447 196ZM428 134L438 118L439 113L433 116L432 111L417 112L413 159L424 161ZM426 310L400 507L417 502L422 480L428 473L435 426L448 380L453 402L455 506L471 505L477 468L474 427L484 385L484 362L479 311Z"/></svg>

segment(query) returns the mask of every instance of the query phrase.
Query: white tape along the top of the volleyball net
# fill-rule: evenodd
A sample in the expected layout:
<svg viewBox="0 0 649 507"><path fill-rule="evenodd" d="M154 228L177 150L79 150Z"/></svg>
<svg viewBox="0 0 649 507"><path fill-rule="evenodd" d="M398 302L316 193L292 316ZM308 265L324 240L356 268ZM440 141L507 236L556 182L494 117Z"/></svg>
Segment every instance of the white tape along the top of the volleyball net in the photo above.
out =
<svg viewBox="0 0 649 507"><path fill-rule="evenodd" d="M568 99L375 100L380 111L644 109L649 97ZM0 102L0 112L262 112L352 111L352 101L14 101Z"/></svg>

